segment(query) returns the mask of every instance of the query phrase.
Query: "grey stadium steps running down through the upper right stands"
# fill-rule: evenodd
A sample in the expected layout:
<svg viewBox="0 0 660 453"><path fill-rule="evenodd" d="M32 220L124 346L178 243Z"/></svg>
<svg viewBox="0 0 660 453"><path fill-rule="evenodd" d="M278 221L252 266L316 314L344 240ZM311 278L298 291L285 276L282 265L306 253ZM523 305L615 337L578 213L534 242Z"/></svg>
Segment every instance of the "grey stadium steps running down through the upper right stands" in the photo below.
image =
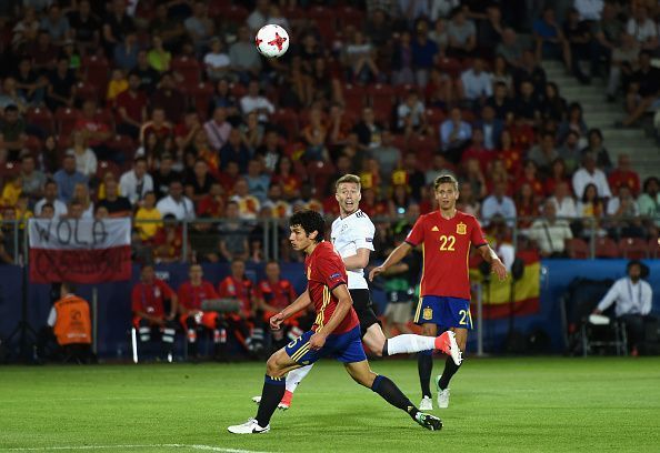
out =
<svg viewBox="0 0 660 453"><path fill-rule="evenodd" d="M620 153L628 153L642 181L660 174L660 147L656 141L642 128L614 128L614 122L624 117L623 108L621 101L606 102L603 80L594 79L590 85L582 85L573 76L566 73L563 63L559 61L543 61L542 67L548 80L558 84L559 92L567 102L579 102L582 105L587 125L602 131L604 145L614 165Z"/></svg>

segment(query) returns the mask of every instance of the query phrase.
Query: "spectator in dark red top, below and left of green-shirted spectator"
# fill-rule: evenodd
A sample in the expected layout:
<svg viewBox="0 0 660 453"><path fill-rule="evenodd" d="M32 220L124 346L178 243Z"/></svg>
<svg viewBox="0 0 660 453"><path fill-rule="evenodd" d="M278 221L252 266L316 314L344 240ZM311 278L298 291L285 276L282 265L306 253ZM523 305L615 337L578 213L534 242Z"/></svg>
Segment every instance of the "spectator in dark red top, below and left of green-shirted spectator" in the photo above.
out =
<svg viewBox="0 0 660 453"><path fill-rule="evenodd" d="M128 90L119 93L114 100L117 111L117 132L129 135L133 140L140 135L140 128L147 121L148 100L140 90L140 76L130 72Z"/></svg>

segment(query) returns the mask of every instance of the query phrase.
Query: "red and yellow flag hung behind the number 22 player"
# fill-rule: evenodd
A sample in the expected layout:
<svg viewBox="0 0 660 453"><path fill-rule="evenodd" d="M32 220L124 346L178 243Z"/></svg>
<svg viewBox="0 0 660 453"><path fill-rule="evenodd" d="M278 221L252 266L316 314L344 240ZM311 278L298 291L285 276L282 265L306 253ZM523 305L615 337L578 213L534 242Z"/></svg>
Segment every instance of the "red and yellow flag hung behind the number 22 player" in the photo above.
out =
<svg viewBox="0 0 660 453"><path fill-rule="evenodd" d="M512 284L511 275L503 282L494 274L490 274L489 282L483 281L477 263L470 265L470 281L482 283L481 299L483 301L483 319L493 320L538 313L541 294L541 261L537 252L519 252L518 256L524 262L522 278ZM513 299L511 299L513 290ZM511 302L513 302L511 304ZM472 314L474 314L472 305Z"/></svg>

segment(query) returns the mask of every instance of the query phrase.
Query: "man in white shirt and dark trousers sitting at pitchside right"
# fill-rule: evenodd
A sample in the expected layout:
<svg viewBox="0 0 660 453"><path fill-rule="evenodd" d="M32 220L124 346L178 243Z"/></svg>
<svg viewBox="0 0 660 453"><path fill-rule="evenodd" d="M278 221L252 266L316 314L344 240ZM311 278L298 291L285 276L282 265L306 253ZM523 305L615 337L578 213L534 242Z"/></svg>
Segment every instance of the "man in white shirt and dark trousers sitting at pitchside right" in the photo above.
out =
<svg viewBox="0 0 660 453"><path fill-rule="evenodd" d="M653 290L642 279L648 275L648 268L639 261L630 261L626 269L627 276L614 282L608 293L593 310L594 314L602 314L612 303L616 303L616 316L626 324L629 349L632 355L638 355L639 348L646 338L647 325L657 329L657 319L651 316L653 308Z"/></svg>

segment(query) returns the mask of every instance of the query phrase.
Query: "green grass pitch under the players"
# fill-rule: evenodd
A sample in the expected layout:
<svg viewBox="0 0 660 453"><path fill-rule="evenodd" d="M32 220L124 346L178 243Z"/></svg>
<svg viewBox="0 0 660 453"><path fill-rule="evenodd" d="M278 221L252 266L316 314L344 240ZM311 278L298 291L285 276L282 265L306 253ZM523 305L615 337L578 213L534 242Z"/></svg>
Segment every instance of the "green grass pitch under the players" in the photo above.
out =
<svg viewBox="0 0 660 453"><path fill-rule="evenodd" d="M436 361L433 375L442 364ZM417 362L372 366L419 403ZM274 414L270 433L229 434L228 425L256 414L250 397L260 394L263 371L262 363L2 368L0 452L200 450L173 444L260 452L660 451L658 358L469 359L451 384L450 407L432 412L444 422L440 432L418 426L353 383L341 364L324 361L292 409ZM149 446L157 444L172 446Z"/></svg>

